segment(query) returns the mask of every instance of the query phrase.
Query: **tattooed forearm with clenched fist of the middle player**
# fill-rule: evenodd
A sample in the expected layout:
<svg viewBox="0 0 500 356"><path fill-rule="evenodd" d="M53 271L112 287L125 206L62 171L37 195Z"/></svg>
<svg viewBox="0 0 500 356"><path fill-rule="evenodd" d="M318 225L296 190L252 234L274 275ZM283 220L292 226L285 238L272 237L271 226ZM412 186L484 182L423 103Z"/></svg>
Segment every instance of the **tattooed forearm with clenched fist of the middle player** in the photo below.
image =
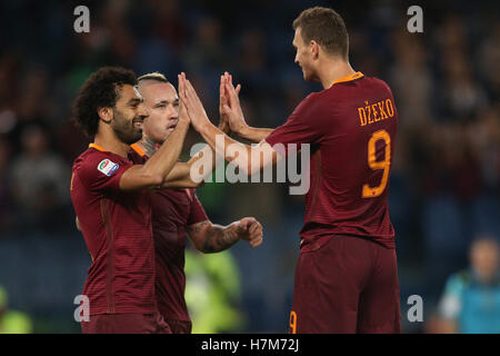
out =
<svg viewBox="0 0 500 356"><path fill-rule="evenodd" d="M248 241L251 247L262 244L262 225L251 217L228 226L204 220L188 226L187 233L194 247L203 254L222 251L239 240Z"/></svg>

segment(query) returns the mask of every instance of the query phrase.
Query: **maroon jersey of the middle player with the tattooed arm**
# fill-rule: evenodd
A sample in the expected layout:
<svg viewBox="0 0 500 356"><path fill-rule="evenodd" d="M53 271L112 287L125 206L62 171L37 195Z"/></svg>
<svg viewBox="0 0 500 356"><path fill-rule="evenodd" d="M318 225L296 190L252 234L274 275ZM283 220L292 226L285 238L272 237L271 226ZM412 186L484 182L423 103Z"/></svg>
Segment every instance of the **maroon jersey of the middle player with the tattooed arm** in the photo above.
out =
<svg viewBox="0 0 500 356"><path fill-rule="evenodd" d="M148 156L132 145L129 158L143 164ZM156 250L158 309L168 319L190 320L186 306L186 227L208 220L194 189L162 189L151 195Z"/></svg>

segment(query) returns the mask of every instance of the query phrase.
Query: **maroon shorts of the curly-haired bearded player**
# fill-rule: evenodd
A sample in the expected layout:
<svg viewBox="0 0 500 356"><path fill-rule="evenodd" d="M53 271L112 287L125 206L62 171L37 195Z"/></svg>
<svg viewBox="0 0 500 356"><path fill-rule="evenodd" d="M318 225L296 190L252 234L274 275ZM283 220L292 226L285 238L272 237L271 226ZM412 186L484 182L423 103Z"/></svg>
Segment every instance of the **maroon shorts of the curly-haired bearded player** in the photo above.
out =
<svg viewBox="0 0 500 356"><path fill-rule="evenodd" d="M100 314L81 322L83 334L172 334L160 313Z"/></svg>

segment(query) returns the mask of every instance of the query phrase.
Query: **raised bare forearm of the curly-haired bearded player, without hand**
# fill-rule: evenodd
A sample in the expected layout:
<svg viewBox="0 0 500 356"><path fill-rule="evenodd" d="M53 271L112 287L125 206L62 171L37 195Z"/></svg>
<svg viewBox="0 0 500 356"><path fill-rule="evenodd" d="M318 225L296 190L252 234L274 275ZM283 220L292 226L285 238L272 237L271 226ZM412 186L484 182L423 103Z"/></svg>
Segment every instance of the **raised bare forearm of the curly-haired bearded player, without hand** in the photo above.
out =
<svg viewBox="0 0 500 356"><path fill-rule="evenodd" d="M170 170L176 165L182 151L186 134L189 129L189 121L179 120L176 129L170 134L160 149L143 165L143 170L152 177L159 177L160 184L164 181Z"/></svg>

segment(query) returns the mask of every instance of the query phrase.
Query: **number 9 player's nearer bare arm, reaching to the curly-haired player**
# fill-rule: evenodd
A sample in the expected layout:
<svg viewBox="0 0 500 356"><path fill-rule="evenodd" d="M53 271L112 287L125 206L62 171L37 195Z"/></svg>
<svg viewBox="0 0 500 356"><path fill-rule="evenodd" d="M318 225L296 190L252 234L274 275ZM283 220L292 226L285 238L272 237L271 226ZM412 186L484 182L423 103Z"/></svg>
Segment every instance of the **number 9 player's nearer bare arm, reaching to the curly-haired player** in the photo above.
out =
<svg viewBox="0 0 500 356"><path fill-rule="evenodd" d="M266 166L277 162L278 155L266 140L250 147L233 140L214 127L208 119L197 92L186 79L186 75L181 73L179 80L183 81L183 90L179 91L179 96L186 102L191 123L217 155L223 156L227 161L233 162L247 175L253 175Z"/></svg>

